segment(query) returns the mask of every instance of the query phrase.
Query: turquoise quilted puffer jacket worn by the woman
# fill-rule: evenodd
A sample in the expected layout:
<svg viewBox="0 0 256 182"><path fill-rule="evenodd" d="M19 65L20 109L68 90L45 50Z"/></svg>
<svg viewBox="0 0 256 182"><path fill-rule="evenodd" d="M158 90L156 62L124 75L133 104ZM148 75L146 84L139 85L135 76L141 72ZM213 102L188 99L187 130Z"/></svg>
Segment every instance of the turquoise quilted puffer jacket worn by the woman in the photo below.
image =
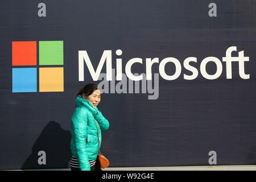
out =
<svg viewBox="0 0 256 182"><path fill-rule="evenodd" d="M97 127L98 134L97 134ZM96 160L98 155L98 135L101 145L101 131L109 129L109 122L97 107L83 99L76 98L76 110L72 115L71 153L78 158L82 171L90 171L89 160Z"/></svg>

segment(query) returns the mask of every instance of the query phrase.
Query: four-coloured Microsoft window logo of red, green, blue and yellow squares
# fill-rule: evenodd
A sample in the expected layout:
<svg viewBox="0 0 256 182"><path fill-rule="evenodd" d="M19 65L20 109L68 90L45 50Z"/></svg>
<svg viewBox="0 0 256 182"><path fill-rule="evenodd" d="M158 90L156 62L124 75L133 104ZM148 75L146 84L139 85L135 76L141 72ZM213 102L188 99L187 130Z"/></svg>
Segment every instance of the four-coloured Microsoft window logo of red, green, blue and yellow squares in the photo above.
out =
<svg viewBox="0 0 256 182"><path fill-rule="evenodd" d="M12 42L12 56L13 93L64 91L63 41Z"/></svg>

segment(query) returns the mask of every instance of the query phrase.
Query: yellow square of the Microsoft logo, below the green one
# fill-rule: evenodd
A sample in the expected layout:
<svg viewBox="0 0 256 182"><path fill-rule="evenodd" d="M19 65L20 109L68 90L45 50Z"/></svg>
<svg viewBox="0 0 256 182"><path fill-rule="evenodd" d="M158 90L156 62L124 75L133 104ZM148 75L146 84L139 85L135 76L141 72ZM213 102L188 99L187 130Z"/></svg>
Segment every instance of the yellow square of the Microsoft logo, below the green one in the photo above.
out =
<svg viewBox="0 0 256 182"><path fill-rule="evenodd" d="M39 92L64 92L63 67L39 68Z"/></svg>

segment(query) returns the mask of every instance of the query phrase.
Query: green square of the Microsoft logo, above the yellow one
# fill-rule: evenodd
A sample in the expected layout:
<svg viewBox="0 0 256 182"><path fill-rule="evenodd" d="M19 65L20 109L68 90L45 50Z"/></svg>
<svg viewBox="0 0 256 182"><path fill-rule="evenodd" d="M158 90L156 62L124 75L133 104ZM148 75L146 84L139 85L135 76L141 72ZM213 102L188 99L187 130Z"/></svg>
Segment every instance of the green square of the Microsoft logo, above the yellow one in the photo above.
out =
<svg viewBox="0 0 256 182"><path fill-rule="evenodd" d="M39 65L63 65L63 41L39 41Z"/></svg>

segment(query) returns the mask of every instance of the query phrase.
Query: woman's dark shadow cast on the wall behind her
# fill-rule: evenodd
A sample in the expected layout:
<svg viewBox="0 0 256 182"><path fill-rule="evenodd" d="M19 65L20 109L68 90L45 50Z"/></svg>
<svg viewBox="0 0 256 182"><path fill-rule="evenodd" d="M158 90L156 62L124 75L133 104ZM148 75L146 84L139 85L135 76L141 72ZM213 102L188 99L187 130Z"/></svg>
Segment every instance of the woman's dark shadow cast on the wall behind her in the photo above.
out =
<svg viewBox="0 0 256 182"><path fill-rule="evenodd" d="M59 123L50 121L21 169L68 168L71 159L70 140L70 131L63 130Z"/></svg>

